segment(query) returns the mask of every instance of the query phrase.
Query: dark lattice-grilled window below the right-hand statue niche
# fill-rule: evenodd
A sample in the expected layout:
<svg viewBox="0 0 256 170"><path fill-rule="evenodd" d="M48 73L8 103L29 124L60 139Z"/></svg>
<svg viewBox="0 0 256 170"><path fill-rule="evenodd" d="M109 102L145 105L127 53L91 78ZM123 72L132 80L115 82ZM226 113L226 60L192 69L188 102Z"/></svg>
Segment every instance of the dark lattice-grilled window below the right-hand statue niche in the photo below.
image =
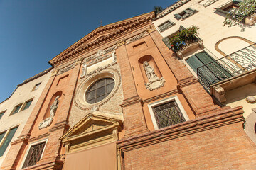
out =
<svg viewBox="0 0 256 170"><path fill-rule="evenodd" d="M164 103L152 108L152 110L159 129L186 121L176 101Z"/></svg>

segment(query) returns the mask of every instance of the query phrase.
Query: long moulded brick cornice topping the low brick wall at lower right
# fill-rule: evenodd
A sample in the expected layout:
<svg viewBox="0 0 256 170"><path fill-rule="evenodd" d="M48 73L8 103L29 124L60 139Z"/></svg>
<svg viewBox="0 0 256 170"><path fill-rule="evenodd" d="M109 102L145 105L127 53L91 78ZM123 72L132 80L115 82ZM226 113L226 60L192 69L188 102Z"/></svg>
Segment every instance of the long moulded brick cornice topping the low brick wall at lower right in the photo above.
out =
<svg viewBox="0 0 256 170"><path fill-rule="evenodd" d="M120 148L122 152L127 152L132 149L154 145L159 142L191 135L196 132L218 128L220 126L229 125L231 123L242 122L244 121L242 115L243 112L244 111L242 110L242 106L226 109L225 111L220 111L218 113L206 115L201 118L188 120L177 125L154 130L153 132L146 132L142 135L119 140L117 142L117 147Z"/></svg>

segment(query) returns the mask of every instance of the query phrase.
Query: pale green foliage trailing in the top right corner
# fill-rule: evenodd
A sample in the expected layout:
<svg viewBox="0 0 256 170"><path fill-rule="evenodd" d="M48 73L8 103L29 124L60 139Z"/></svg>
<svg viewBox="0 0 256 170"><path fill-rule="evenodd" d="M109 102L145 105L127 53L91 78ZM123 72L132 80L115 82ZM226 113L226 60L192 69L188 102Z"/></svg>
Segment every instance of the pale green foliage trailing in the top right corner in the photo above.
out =
<svg viewBox="0 0 256 170"><path fill-rule="evenodd" d="M245 17L250 16L256 12L255 0L243 0L238 3L238 6L238 8L234 8L227 14L225 21L223 22L223 26L238 25L245 19Z"/></svg>

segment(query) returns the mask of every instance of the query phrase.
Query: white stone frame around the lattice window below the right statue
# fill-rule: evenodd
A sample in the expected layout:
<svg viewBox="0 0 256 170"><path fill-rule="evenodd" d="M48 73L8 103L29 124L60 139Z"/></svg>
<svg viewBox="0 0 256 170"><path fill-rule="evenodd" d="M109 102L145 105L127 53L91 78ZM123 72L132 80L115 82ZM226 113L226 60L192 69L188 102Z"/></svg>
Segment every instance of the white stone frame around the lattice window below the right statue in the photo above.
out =
<svg viewBox="0 0 256 170"><path fill-rule="evenodd" d="M157 123L156 123L156 118L155 118L155 116L154 116L153 108L156 107L156 106L160 106L160 105L162 105L162 104L164 104L164 103L169 103L169 102L171 102L171 101L176 101L176 103L177 103L177 105L178 105L178 108L181 110L181 113L182 113L183 117L185 118L185 120L186 120L186 121L190 120L190 119L188 118L188 115L187 115L185 109L183 108L183 106L182 106L182 104L181 104L181 101L178 99L178 96L177 96L177 95L171 96L171 97L169 97L169 98L165 98L165 99L163 99L163 100L156 101L156 102L150 103L150 104L148 105L149 113L150 113L151 120L152 120L152 123L153 123L153 125L154 125L154 129L155 129L155 130L158 130L159 128L158 128L158 125L157 125Z"/></svg>

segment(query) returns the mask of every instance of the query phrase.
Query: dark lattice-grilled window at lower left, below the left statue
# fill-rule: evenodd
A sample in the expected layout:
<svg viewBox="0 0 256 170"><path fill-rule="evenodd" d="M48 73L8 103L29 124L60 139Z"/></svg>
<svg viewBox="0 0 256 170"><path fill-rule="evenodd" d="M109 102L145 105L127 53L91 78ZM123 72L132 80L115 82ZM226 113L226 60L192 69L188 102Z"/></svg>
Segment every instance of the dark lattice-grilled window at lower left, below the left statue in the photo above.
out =
<svg viewBox="0 0 256 170"><path fill-rule="evenodd" d="M35 165L41 159L45 145L46 142L31 146L22 168Z"/></svg>

